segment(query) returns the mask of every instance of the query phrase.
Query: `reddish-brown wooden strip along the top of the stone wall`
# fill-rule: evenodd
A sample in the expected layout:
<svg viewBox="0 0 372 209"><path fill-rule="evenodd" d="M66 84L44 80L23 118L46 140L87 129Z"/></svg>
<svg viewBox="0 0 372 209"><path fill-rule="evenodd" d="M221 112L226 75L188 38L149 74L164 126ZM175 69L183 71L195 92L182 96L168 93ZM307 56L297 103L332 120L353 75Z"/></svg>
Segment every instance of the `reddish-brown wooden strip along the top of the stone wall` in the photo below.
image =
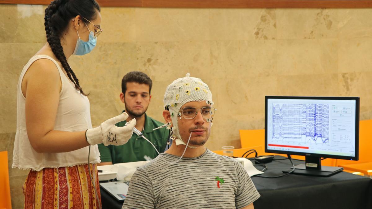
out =
<svg viewBox="0 0 372 209"><path fill-rule="evenodd" d="M367 8L372 0L97 0L103 7L171 8ZM0 4L45 4L51 0L0 0Z"/></svg>

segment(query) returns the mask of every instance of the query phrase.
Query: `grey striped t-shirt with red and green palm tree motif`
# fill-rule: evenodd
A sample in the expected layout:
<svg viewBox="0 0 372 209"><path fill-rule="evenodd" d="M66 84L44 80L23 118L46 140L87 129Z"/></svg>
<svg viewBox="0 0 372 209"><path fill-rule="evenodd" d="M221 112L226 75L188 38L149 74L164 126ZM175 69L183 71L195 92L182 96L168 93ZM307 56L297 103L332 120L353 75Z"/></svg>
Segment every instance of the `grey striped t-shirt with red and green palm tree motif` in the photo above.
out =
<svg viewBox="0 0 372 209"><path fill-rule="evenodd" d="M161 156L169 162L179 158ZM123 209L243 208L260 197L243 166L232 158L208 149L176 164L161 156L135 171Z"/></svg>

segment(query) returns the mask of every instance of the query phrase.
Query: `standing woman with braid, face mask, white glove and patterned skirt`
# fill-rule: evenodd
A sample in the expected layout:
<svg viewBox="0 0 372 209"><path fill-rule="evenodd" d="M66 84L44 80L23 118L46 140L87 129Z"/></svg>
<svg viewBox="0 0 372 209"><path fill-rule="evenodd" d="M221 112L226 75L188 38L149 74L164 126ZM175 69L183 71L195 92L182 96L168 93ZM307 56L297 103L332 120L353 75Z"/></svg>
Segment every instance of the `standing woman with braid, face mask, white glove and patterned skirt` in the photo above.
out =
<svg viewBox="0 0 372 209"><path fill-rule="evenodd" d="M68 64L71 55L96 45L102 32L97 2L54 0L44 19L48 42L18 82L12 167L31 169L25 208L100 208L97 144L125 144L136 122L116 127L128 117L123 113L92 128L87 94Z"/></svg>

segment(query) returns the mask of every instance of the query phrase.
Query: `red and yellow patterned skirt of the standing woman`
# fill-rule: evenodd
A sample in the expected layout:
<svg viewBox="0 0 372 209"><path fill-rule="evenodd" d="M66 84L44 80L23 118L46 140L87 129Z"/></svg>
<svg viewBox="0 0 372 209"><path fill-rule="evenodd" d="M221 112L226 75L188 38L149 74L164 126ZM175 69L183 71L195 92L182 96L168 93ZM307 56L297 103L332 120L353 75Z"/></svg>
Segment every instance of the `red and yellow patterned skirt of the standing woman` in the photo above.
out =
<svg viewBox="0 0 372 209"><path fill-rule="evenodd" d="M90 171L100 200L97 165L90 164ZM25 209L97 209L100 202L89 177L88 164L31 170L23 194Z"/></svg>

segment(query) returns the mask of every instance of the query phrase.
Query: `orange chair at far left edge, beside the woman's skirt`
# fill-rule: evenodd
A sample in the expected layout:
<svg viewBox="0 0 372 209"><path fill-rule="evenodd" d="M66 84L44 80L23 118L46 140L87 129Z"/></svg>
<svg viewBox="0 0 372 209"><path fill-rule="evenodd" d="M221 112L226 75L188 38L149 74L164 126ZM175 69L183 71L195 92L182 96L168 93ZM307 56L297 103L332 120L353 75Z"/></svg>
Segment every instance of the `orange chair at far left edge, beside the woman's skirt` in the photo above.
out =
<svg viewBox="0 0 372 209"><path fill-rule="evenodd" d="M0 208L12 209L8 169L8 152L0 152Z"/></svg>

